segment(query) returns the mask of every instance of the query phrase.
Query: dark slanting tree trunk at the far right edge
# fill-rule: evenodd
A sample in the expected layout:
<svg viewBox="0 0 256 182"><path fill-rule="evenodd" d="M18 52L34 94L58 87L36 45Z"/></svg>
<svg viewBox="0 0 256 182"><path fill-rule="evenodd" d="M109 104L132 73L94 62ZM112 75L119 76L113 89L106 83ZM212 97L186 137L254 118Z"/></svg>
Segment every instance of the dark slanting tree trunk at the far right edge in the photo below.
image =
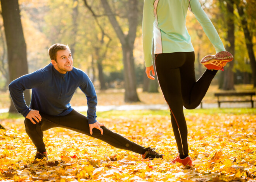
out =
<svg viewBox="0 0 256 182"><path fill-rule="evenodd" d="M242 22L242 27L244 30L244 37L246 39L246 47L247 47L247 51L248 51L249 58L250 58L250 64L251 64L251 69L252 69L252 73L253 73L253 87L256 88L256 60L255 60L255 55L253 52L253 41L252 41L252 37L251 37L251 34L248 29L247 19L244 14L244 9L242 7L239 7L239 5L237 4L237 10L238 10L241 22Z"/></svg>

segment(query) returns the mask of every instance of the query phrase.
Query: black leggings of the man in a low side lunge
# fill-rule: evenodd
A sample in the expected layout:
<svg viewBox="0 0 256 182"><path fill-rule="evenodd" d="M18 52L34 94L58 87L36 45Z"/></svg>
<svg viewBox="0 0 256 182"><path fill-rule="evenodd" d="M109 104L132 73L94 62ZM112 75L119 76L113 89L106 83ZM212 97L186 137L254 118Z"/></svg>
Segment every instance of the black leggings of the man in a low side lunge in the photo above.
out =
<svg viewBox="0 0 256 182"><path fill-rule="evenodd" d="M73 110L66 116L54 117L48 116L46 114L41 114L41 116L42 120L40 122L36 122L36 124L33 124L27 118L24 121L26 133L31 138L39 152L46 151L45 144L43 142L43 131L46 131L50 128L61 127L100 139L116 148L143 154L143 146L133 143L125 137L110 131L104 126L101 127L103 129L103 135L100 133L100 130L96 128L93 128L93 134L91 135L87 117L77 111Z"/></svg>

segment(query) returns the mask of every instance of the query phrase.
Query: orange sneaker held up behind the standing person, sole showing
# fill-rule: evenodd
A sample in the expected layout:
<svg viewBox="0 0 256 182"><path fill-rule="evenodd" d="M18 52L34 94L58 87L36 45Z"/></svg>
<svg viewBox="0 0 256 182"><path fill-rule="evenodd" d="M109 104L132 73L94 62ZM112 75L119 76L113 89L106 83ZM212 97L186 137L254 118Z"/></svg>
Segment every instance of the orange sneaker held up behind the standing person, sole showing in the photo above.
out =
<svg viewBox="0 0 256 182"><path fill-rule="evenodd" d="M202 58L201 63L208 70L221 70L224 71L224 66L227 62L232 61L234 56L228 51L221 51L215 55L207 55Z"/></svg>

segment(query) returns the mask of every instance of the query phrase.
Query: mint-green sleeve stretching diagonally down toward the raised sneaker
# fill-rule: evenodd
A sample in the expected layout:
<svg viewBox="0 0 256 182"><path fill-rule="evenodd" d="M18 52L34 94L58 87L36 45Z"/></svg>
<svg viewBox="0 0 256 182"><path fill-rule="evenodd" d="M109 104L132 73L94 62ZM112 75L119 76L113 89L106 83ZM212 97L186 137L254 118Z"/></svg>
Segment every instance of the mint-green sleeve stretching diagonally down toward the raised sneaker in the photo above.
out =
<svg viewBox="0 0 256 182"><path fill-rule="evenodd" d="M216 31L215 27L213 26L213 23L211 22L211 20L208 18L208 16L202 9L199 1L198 0L190 0L190 8L191 8L192 13L195 15L195 18L201 24L207 37L213 44L213 46L216 50L216 53L225 51L225 48L220 39L220 36L218 35L218 32Z"/></svg>

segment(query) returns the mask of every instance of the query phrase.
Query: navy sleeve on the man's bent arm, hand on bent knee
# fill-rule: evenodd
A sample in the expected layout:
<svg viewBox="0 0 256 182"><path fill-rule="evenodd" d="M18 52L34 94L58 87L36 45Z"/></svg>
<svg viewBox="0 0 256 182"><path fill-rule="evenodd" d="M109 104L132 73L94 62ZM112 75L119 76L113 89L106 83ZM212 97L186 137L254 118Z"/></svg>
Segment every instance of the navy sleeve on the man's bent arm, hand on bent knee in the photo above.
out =
<svg viewBox="0 0 256 182"><path fill-rule="evenodd" d="M26 117L31 110L24 99L24 90L38 87L42 82L43 74L37 70L33 73L23 75L9 84L10 97L14 107L24 117Z"/></svg>

